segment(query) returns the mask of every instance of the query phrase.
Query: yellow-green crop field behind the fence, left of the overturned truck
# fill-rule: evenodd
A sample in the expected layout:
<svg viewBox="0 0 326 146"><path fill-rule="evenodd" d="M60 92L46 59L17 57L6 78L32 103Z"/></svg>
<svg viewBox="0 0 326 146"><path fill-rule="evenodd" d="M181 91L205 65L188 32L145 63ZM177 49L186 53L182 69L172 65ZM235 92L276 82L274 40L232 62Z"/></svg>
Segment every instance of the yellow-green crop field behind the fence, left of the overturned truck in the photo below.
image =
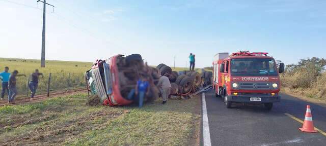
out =
<svg viewBox="0 0 326 146"><path fill-rule="evenodd" d="M73 62L73 61L52 61L47 60L45 68L40 67L40 60L33 59L15 59L15 58L0 58L0 71L5 69L5 66L9 67L9 72L14 69L19 71L19 74L30 74L39 69L44 74L44 78L40 78L38 92L45 92L47 89L48 77L51 72L51 91L66 90L68 87L84 87L84 72L90 69L91 62ZM70 77L69 77L70 75ZM28 78L17 78L17 90L20 95L26 95L28 91Z"/></svg>

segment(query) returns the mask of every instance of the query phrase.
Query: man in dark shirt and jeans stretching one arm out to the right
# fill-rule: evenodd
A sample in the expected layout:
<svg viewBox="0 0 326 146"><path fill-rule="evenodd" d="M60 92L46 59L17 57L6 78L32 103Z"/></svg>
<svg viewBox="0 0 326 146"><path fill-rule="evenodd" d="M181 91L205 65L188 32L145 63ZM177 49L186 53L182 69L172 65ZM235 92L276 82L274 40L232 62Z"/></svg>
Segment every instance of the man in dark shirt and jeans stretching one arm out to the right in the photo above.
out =
<svg viewBox="0 0 326 146"><path fill-rule="evenodd" d="M14 70L9 78L9 85L8 85L8 88L9 88L9 94L8 94L8 103L14 103L14 99L17 95L17 88L16 88L16 83L17 83L17 80L16 80L16 77L20 77L20 76L24 76L26 77L26 75L18 75L18 71L17 70Z"/></svg>

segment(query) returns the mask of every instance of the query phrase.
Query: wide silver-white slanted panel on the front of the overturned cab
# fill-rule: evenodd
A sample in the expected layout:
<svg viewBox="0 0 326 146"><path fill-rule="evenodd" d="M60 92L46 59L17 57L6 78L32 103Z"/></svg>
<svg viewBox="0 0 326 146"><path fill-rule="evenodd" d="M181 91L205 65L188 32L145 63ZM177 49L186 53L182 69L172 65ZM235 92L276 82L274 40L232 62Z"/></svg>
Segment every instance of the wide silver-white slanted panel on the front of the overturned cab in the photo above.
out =
<svg viewBox="0 0 326 146"><path fill-rule="evenodd" d="M104 85L100 75L100 70L97 67L97 68L93 68L92 72L93 72L93 77L95 77L93 79L95 79L94 81L95 81L95 89L97 91L97 96L98 98L100 98L100 101L103 102L105 99L107 99L107 95L105 93Z"/></svg>

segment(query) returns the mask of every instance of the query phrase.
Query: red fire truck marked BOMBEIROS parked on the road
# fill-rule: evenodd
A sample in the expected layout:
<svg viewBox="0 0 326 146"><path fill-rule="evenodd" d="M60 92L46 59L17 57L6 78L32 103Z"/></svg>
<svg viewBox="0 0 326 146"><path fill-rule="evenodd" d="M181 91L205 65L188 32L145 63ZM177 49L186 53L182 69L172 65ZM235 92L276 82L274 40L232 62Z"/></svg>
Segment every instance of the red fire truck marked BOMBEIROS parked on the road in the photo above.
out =
<svg viewBox="0 0 326 146"><path fill-rule="evenodd" d="M224 99L227 108L233 103L263 104L266 109L280 102L279 74L284 63L276 63L268 53L240 51L218 53L213 61L212 86L216 97Z"/></svg>

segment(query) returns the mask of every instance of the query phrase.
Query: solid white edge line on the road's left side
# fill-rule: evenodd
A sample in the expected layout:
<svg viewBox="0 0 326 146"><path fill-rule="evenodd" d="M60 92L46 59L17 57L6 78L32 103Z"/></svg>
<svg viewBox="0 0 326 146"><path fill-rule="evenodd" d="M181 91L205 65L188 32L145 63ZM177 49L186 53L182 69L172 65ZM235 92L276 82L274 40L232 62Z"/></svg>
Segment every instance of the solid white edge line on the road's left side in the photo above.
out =
<svg viewBox="0 0 326 146"><path fill-rule="evenodd" d="M203 99L203 143L204 146L211 146L205 93L202 94L202 99Z"/></svg>

